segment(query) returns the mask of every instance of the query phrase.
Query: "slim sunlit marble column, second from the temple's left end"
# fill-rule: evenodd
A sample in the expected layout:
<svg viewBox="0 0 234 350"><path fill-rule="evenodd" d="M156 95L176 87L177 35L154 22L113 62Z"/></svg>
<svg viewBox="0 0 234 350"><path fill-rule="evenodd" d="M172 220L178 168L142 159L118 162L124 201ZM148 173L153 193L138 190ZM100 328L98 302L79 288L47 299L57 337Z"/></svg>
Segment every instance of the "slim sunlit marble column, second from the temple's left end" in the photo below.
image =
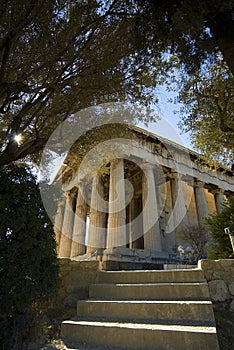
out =
<svg viewBox="0 0 234 350"><path fill-rule="evenodd" d="M59 257L70 258L71 255L71 244L73 234L73 223L74 223L74 205L75 197L73 194L67 194L66 205L63 218L62 235L59 246Z"/></svg>

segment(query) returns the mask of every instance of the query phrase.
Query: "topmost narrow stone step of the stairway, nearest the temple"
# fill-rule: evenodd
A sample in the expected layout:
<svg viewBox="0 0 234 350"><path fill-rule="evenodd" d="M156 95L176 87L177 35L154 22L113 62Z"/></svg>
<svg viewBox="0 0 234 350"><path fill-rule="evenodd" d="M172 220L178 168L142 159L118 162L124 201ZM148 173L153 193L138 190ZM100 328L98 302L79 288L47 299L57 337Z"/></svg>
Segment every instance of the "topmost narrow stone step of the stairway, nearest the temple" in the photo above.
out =
<svg viewBox="0 0 234 350"><path fill-rule="evenodd" d="M205 282L202 270L100 271L97 283Z"/></svg>

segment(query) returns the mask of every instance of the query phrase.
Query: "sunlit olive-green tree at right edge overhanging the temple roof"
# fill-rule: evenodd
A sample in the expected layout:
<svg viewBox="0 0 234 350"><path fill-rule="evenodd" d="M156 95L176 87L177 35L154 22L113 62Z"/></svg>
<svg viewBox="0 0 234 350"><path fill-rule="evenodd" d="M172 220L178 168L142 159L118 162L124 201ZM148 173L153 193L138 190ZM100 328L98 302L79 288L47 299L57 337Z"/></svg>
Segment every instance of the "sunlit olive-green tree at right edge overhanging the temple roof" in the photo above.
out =
<svg viewBox="0 0 234 350"><path fill-rule="evenodd" d="M219 166L234 164L234 78L221 61L203 67L204 74L181 75L181 128L196 149Z"/></svg>

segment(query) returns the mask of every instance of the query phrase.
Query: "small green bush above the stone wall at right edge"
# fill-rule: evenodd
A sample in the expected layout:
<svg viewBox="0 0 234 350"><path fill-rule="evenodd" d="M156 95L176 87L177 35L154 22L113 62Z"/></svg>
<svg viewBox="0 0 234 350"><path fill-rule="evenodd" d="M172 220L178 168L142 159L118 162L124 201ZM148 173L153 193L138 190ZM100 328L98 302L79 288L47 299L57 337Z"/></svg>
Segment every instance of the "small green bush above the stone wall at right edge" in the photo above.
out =
<svg viewBox="0 0 234 350"><path fill-rule="evenodd" d="M224 233L224 228L234 228L234 197L230 197L223 205L220 213L212 215L206 220L206 225L214 240L208 251L209 259L234 258L229 235Z"/></svg>

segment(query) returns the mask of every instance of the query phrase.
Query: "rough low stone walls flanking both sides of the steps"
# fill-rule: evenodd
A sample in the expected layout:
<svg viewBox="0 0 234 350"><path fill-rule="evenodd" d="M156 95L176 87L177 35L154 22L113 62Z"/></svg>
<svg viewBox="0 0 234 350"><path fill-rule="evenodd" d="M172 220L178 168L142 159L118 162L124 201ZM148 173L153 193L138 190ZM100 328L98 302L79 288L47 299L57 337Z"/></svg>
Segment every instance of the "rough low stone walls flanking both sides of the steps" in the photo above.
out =
<svg viewBox="0 0 234 350"><path fill-rule="evenodd" d="M58 322L76 315L77 300L88 299L89 285L95 283L100 269L98 260L76 261L60 258L61 286L55 309ZM234 344L234 259L200 260L208 282L217 325L220 350Z"/></svg>

